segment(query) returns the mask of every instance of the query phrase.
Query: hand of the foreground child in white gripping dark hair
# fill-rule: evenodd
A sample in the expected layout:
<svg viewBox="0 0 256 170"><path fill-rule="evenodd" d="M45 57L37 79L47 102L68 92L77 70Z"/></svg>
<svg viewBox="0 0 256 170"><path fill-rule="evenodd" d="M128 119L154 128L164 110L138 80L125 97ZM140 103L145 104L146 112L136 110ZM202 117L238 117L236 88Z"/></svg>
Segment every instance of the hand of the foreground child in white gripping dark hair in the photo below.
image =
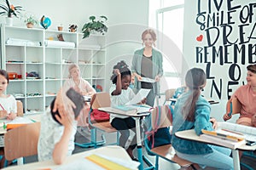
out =
<svg viewBox="0 0 256 170"><path fill-rule="evenodd" d="M71 99L67 97L66 91L64 92L64 90L62 90L61 88L56 96L53 111L58 110L60 113L63 111L67 111L67 113L74 114L73 108L76 108L76 105L73 103Z"/></svg>

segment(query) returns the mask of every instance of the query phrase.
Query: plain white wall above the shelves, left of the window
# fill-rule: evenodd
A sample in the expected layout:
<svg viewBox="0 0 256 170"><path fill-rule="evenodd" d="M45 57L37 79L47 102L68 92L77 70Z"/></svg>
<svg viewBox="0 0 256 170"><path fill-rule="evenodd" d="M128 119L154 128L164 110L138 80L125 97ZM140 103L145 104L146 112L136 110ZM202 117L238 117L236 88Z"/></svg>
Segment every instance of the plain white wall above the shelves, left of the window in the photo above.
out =
<svg viewBox="0 0 256 170"><path fill-rule="evenodd" d="M9 3L22 6L26 10L24 14L32 14L38 20L43 15L49 17L52 21L49 30L57 30L57 26L61 24L63 30L68 31L69 24L77 24L78 31L81 31L84 23L89 21L90 15L107 16L107 80L118 60L125 59L128 65L131 65L133 52L142 48L141 34L148 28L148 0L9 0ZM0 16L1 22L4 22L3 16ZM14 23L15 26L26 26L20 19L15 19ZM108 90L110 85L109 80L105 90Z"/></svg>

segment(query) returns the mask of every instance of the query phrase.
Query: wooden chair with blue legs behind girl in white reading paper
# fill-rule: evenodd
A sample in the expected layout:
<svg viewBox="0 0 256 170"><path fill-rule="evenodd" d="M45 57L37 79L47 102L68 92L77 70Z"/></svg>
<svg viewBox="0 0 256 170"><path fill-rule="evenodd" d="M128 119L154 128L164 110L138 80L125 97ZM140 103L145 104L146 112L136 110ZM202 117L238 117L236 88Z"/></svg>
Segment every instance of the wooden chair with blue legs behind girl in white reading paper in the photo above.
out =
<svg viewBox="0 0 256 170"><path fill-rule="evenodd" d="M113 144L119 144L119 132L116 130L114 127L111 126L109 120L105 122L92 122L90 120L90 115L93 114L93 110L98 109L100 107L110 107L111 106L111 101L110 101L110 95L108 93L97 93L94 94L94 96L91 99L91 104L90 104L90 112L88 116L88 122L90 124L90 143L85 143L85 144L78 144L75 143L76 145L80 147L92 147L96 148L99 145L105 144L106 139L104 135L102 134L102 140L97 141L96 139L96 133L97 130L102 131L103 133L116 133L116 142Z"/></svg>

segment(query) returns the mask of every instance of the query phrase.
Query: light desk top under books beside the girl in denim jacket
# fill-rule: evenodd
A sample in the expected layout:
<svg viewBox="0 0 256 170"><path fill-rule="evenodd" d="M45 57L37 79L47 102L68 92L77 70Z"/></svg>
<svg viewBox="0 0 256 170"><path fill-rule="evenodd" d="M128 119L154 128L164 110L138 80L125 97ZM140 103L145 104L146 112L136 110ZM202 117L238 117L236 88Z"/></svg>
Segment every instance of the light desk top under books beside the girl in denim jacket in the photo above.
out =
<svg viewBox="0 0 256 170"><path fill-rule="evenodd" d="M198 141L198 142L203 142L203 143L211 144L207 140L201 139L200 136L197 136L195 134L195 130L194 129L180 131L180 132L175 133L175 135L178 138L181 138L181 139L195 140L195 141ZM239 146L237 149L238 150L256 150L256 145L248 146L246 144L241 144L241 146Z"/></svg>

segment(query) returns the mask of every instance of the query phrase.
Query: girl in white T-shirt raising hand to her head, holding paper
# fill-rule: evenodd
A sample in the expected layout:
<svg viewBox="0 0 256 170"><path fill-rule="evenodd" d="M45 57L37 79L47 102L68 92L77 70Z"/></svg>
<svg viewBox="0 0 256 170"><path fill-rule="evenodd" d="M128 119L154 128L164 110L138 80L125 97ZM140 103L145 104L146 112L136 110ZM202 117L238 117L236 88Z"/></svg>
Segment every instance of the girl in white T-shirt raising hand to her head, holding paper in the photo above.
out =
<svg viewBox="0 0 256 170"><path fill-rule="evenodd" d="M131 71L128 68L128 65L125 64L125 61L120 61L117 65L113 66L113 76L111 77L113 85L109 89L109 93L111 96L111 105L125 105L128 101L135 97L132 89L129 88L131 83ZM146 99L142 100L144 104ZM110 115L111 125L119 130L120 135L120 145L125 148L125 143L128 141L130 136L131 129L134 133L136 133L136 123L132 117L129 116L118 116L118 115ZM133 156L132 151L136 148L136 137L133 137L131 141L131 145L126 150L129 156L131 156L132 160L137 159Z"/></svg>

